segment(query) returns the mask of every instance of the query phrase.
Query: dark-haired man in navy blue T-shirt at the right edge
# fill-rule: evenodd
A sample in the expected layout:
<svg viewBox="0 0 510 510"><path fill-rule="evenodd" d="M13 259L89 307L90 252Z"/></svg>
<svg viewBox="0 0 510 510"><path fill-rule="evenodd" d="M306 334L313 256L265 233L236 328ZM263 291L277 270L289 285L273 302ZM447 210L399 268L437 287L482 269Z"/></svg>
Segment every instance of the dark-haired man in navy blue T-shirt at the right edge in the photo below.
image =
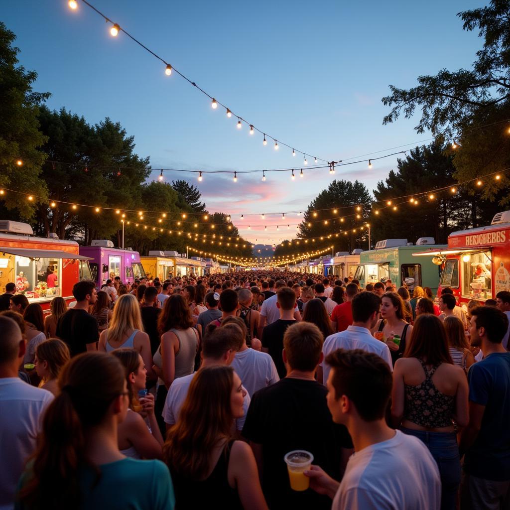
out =
<svg viewBox="0 0 510 510"><path fill-rule="evenodd" d="M444 297L444 296L443 296ZM471 345L483 360L471 365L469 425L461 431L464 455L461 508L508 508L510 502L510 352L501 345L507 316L497 308L471 311Z"/></svg>

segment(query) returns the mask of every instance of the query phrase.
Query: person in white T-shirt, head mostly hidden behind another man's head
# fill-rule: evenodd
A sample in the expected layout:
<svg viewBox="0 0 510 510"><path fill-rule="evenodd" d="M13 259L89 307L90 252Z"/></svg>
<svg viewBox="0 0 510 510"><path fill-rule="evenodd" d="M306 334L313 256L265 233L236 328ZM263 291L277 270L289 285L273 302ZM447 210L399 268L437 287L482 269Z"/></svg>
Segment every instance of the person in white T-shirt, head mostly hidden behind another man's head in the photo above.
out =
<svg viewBox="0 0 510 510"><path fill-rule="evenodd" d="M228 317L222 326L237 324L243 331L243 345L236 352L232 366L239 375L249 395L280 380L273 359L266 352L254 350L246 345L246 324L241 317Z"/></svg>

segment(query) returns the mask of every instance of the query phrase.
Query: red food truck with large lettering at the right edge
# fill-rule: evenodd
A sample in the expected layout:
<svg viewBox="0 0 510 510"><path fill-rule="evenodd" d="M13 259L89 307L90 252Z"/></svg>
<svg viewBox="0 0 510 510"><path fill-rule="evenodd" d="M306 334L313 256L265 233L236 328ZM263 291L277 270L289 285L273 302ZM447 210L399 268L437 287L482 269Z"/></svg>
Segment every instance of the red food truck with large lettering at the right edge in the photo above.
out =
<svg viewBox="0 0 510 510"><path fill-rule="evenodd" d="M443 267L438 296L450 287L460 305L495 299L498 292L510 291L510 211L496 214L488 226L452 232L444 249L415 256L428 256Z"/></svg>

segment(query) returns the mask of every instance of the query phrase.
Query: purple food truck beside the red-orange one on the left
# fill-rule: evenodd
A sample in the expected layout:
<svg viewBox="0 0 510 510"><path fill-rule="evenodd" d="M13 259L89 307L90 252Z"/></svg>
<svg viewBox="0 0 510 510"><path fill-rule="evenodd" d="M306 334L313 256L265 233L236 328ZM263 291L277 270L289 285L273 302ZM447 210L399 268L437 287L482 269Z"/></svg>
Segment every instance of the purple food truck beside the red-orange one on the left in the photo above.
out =
<svg viewBox="0 0 510 510"><path fill-rule="evenodd" d="M94 239L91 246L81 246L80 254L90 257L92 279L97 288L106 284L107 279L120 277L122 283L133 283L135 278L145 278L140 262L140 253L131 248L115 248L108 239Z"/></svg>

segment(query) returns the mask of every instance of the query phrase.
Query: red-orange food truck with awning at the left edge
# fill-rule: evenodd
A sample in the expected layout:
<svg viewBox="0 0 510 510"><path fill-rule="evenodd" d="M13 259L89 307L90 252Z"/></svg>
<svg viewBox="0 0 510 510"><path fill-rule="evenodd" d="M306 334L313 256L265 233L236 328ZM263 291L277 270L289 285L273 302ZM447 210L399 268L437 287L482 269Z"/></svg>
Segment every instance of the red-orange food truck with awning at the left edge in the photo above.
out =
<svg viewBox="0 0 510 510"><path fill-rule="evenodd" d="M80 255L78 243L50 235L35 237L27 223L0 220L0 291L15 283L17 294L44 311L55 296L74 301L73 285L92 279L89 258Z"/></svg>

